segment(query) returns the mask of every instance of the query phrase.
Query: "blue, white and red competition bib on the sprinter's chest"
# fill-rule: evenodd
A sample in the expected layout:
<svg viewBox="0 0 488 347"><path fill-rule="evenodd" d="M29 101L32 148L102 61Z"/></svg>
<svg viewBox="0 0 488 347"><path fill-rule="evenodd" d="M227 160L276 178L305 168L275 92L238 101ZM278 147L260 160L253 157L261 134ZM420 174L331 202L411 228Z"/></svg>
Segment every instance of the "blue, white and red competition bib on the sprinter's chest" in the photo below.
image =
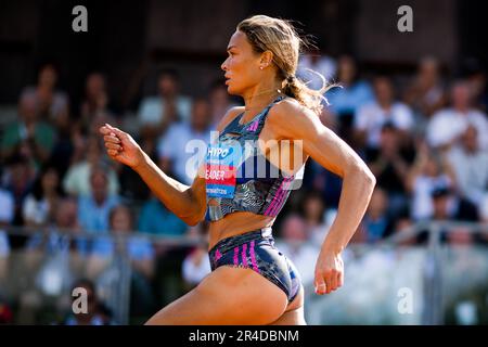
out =
<svg viewBox="0 0 488 347"><path fill-rule="evenodd" d="M207 147L205 180L208 197L234 196L236 171L241 160L241 147L239 142L234 143L236 144L229 145L218 142Z"/></svg>

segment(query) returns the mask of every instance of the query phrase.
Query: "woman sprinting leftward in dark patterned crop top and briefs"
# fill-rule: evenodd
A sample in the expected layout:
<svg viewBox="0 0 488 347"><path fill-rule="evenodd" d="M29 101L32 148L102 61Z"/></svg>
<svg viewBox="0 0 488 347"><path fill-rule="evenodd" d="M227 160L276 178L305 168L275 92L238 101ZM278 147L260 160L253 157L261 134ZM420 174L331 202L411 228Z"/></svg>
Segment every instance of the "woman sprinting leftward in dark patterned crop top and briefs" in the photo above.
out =
<svg viewBox="0 0 488 347"><path fill-rule="evenodd" d="M271 226L309 156L343 178L337 216L316 265L316 293L343 285L341 253L363 217L375 178L319 120L326 88L310 90L295 77L300 44L283 20L256 15L237 25L221 68L228 92L242 97L245 106L222 117L218 141L209 145L191 187L166 176L126 132L110 125L100 129L107 154L136 170L167 208L191 226L210 221L211 273L147 324L306 324L299 275L274 247ZM247 159L264 156L267 169L274 166L279 175L270 178L254 170L251 177L237 177L235 167L249 162L239 159L236 165L214 151L229 150L231 142L244 149L244 141L254 143ZM265 145L286 141L300 144ZM246 158L243 152L232 153ZM296 155L301 163L288 163L285 169L283 163Z"/></svg>

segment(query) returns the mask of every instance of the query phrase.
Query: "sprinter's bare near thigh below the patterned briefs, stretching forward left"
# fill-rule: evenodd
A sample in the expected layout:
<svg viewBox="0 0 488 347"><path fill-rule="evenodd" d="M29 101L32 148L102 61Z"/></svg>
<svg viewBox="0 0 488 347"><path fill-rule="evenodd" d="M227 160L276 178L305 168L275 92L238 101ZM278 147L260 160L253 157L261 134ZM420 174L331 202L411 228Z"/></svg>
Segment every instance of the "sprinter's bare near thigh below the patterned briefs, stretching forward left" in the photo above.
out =
<svg viewBox="0 0 488 347"><path fill-rule="evenodd" d="M146 324L269 324L286 309L285 293L252 269L220 267Z"/></svg>

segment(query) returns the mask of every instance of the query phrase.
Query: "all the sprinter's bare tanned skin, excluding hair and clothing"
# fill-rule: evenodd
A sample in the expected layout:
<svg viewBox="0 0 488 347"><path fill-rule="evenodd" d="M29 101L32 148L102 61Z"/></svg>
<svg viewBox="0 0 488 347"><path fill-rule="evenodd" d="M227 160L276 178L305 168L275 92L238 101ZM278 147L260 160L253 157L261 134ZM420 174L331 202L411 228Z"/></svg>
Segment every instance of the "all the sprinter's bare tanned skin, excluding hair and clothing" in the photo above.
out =
<svg viewBox="0 0 488 347"><path fill-rule="evenodd" d="M270 51L254 52L243 33L232 35L228 54L221 65L228 92L242 97L245 106L229 110L217 126L219 131L242 112L243 121L253 119L278 97L277 90L281 88L272 63L273 54ZM102 127L100 132L104 136L108 155L132 167L168 209L191 226L204 219L203 166L192 185L188 187L166 176L126 132L110 125ZM265 142L300 140L303 162L311 156L344 180L337 217L316 265L316 292L329 294L343 285L341 253L364 215L375 185L374 176L343 140L320 123L313 112L292 98L280 101L270 110L259 139ZM261 146L261 150L266 147ZM268 156L269 151L266 153ZM280 153L281 158L294 155L293 147ZM268 158L272 162L271 156ZM280 160L273 164L282 167ZM292 171L299 166L293 167ZM227 215L210 222L209 248L224 237L271 226L273 219L246 211ZM283 291L253 270L219 267L196 288L158 311L147 324L305 324L303 305L303 288L288 304Z"/></svg>

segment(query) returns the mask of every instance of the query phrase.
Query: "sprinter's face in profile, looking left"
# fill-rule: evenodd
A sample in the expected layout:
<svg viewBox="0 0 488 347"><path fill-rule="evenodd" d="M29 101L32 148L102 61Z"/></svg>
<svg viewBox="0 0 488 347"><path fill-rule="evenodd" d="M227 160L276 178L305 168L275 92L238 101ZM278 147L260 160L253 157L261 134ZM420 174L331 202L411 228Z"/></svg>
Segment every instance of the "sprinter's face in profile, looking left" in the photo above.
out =
<svg viewBox="0 0 488 347"><path fill-rule="evenodd" d="M239 30L232 35L227 52L229 55L221 65L226 73L227 91L229 94L242 95L262 78L262 70L259 69L261 54L253 51L246 35Z"/></svg>

